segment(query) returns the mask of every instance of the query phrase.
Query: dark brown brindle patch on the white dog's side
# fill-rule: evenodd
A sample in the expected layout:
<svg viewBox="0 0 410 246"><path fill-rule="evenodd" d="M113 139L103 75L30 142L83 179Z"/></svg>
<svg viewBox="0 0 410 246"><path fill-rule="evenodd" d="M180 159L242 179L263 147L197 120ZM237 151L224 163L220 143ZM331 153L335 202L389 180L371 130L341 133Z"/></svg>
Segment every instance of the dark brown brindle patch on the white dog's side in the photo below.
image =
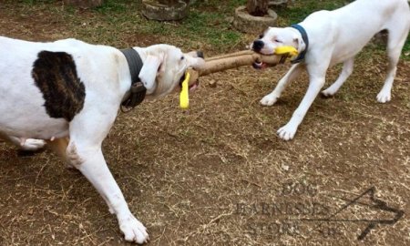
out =
<svg viewBox="0 0 410 246"><path fill-rule="evenodd" d="M32 77L46 100L46 112L51 118L71 121L84 106L86 88L77 76L74 59L66 52L38 53Z"/></svg>

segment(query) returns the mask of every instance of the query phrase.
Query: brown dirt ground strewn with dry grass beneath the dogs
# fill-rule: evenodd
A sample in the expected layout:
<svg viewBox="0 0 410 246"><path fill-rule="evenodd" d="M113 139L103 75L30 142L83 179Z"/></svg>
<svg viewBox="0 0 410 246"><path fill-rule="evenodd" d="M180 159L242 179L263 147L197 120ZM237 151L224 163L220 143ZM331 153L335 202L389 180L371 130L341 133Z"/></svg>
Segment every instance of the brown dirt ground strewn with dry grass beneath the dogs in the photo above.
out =
<svg viewBox="0 0 410 246"><path fill-rule="evenodd" d="M0 2L1 36L81 37L58 13L14 6ZM385 59L367 49L289 142L276 130L301 101L306 75L277 105L259 105L289 65L203 77L188 111L169 95L119 114L104 153L149 245L410 245L410 62L400 62L392 101L379 104ZM329 70L327 85L339 71ZM51 152L25 155L1 142L0 187L1 245L128 244L87 179Z"/></svg>

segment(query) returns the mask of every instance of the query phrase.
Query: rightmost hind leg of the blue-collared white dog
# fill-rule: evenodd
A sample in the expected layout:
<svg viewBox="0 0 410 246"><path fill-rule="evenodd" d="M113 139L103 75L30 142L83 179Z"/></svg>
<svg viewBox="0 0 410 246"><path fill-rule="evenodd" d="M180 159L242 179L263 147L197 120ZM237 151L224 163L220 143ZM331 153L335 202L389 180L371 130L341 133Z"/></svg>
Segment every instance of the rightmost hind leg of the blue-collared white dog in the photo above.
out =
<svg viewBox="0 0 410 246"><path fill-rule="evenodd" d="M397 23L396 25L404 25ZM405 24L407 25L407 24ZM405 26L404 26L405 28ZM402 52L403 46L405 46L405 37L408 33L404 31L404 28L399 28L395 26L389 31L388 41L387 41L387 56L388 56L388 66L387 66L387 77L384 81L384 86L377 95L377 101L380 103L385 103L391 100L391 91L393 87L393 81L395 80L395 73L397 71L397 64Z"/></svg>

